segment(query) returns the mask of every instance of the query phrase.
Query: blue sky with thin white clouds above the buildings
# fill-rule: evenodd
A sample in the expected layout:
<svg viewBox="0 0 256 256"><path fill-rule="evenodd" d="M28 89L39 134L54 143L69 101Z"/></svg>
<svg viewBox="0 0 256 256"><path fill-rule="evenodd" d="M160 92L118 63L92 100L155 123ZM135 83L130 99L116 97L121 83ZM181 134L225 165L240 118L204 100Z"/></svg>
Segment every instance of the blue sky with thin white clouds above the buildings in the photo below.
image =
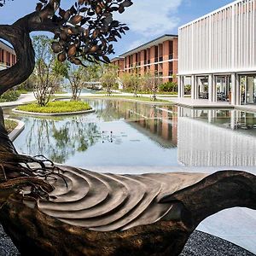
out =
<svg viewBox="0 0 256 256"><path fill-rule="evenodd" d="M201 15L218 9L231 0L133 0L133 5L118 19L130 26L126 36L115 44L115 55L120 55L140 44L163 34L177 34L177 27ZM0 9L0 24L11 24L21 16L32 12L38 0L15 0ZM68 8L74 0L62 0ZM114 56L114 55L113 55ZM113 56L110 56L111 58Z"/></svg>

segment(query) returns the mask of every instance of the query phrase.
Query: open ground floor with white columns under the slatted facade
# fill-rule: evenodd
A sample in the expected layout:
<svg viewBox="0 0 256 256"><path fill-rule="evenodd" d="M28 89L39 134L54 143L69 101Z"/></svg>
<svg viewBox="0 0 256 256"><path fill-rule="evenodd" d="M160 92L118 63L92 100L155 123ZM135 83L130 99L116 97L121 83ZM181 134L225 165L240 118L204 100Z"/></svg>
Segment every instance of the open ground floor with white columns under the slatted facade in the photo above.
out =
<svg viewBox="0 0 256 256"><path fill-rule="evenodd" d="M232 105L256 104L255 73L215 73L178 76L178 96L191 99L229 102Z"/></svg>

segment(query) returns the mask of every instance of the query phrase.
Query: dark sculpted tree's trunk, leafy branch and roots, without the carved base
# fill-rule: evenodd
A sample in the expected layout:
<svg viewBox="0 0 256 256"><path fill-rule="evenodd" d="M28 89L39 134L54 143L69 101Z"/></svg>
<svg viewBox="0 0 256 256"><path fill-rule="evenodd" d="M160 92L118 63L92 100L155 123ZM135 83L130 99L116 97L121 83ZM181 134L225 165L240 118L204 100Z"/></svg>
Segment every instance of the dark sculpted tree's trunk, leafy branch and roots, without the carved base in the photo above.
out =
<svg viewBox="0 0 256 256"><path fill-rule="evenodd" d="M0 0L0 8L5 2ZM0 71L0 95L24 82L33 72L35 52L30 32L45 31L55 34L51 48L58 54L58 61L67 60L76 65L83 64L84 60L108 62L107 55L113 53L111 42L116 41L116 37L120 38L120 33L128 30L125 24L113 21L112 13L122 13L131 4L130 0L98 3L79 0L65 10L60 7L61 0L45 0L38 3L35 12L20 18L14 24L0 25L0 38L13 45L17 59L13 67ZM42 180L35 182L35 177L48 177L54 167L46 167L44 158L39 160L17 154L4 127L2 109L0 115L0 172L3 186L4 183L8 187L13 184L16 189L19 187L19 179L16 178L21 178L21 187L25 183L32 183L34 197L47 196L44 189L46 187L49 190L49 184ZM32 168L30 163L37 166Z"/></svg>

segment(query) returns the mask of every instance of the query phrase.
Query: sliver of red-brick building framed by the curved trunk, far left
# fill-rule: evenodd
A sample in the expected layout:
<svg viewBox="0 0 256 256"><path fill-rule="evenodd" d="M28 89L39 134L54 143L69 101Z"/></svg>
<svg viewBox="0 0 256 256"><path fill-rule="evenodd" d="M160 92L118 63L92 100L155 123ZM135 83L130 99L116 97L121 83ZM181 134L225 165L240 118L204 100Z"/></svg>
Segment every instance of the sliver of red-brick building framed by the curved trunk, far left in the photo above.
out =
<svg viewBox="0 0 256 256"><path fill-rule="evenodd" d="M15 49L0 41L0 70L16 63Z"/></svg>

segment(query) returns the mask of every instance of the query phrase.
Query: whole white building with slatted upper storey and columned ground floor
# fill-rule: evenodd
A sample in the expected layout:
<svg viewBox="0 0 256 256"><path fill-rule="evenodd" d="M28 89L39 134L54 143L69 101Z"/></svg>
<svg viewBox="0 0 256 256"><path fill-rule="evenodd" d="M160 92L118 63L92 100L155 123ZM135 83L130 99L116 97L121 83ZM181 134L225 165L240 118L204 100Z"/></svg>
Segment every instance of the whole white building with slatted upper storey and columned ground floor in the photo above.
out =
<svg viewBox="0 0 256 256"><path fill-rule="evenodd" d="M239 0L178 29L178 95L256 103L256 0Z"/></svg>

